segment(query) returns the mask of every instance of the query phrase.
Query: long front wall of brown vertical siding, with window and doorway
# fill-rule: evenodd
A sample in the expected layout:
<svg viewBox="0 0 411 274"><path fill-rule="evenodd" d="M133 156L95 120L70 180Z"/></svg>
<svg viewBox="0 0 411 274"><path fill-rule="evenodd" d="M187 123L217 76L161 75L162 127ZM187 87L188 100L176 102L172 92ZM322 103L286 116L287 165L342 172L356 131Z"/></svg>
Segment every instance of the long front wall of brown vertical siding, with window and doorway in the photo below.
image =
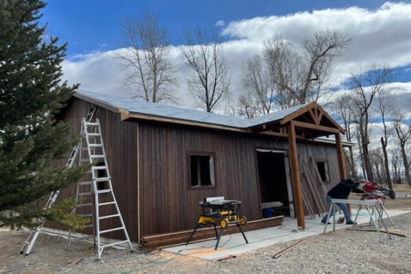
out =
<svg viewBox="0 0 411 274"><path fill-rule="evenodd" d="M285 138L160 123L140 122L139 128L141 235L192 229L201 213L198 203L204 197L239 199L242 201L240 211L247 219L262 218L256 149L288 150ZM303 158L310 163L310 157L329 161L332 183L326 188L339 181L334 146L299 142L297 147L300 165ZM190 152L214 153L214 188L189 187ZM316 175L313 165L309 166L310 172ZM304 181L303 188L307 190ZM321 199L325 199L323 192L320 193ZM314 201L310 199L310 203Z"/></svg>

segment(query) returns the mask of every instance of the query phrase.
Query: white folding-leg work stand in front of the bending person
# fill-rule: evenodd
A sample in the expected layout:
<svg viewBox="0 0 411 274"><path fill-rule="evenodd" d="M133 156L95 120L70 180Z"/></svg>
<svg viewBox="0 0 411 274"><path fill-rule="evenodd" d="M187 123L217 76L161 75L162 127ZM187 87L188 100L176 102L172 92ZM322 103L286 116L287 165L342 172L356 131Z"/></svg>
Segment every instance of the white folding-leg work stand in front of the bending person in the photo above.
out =
<svg viewBox="0 0 411 274"><path fill-rule="evenodd" d="M374 200L331 199L331 206L329 206L327 221L325 222L325 227L324 227L323 234L325 234L325 232L327 231L327 225L328 225L328 221L329 221L329 214L331 212L333 212L333 210L336 210L336 208L338 207L337 203L347 203L349 205L359 205L358 212L356 214L356 219L355 219L354 223L356 223L356 221L357 221L358 213L360 212L362 206L365 206L366 211L369 212L369 215L371 216L371 220L373 220L373 223L375 225L375 229L377 229L379 242L382 242L382 235L381 235L381 232L379 231L379 223L378 223L379 220L381 220L382 225L384 225L384 228L386 229L386 232L388 234L388 238L390 238L390 240L391 240L391 234L390 234L390 232L388 232L388 228L387 228L387 226L384 223L384 220L382 218L383 212L382 212L382 210L377 209L377 204L379 203L379 201L375 200L375 199ZM370 211L370 207L373 210L372 213ZM333 214L333 222L332 223L333 223L332 231L335 232L336 231L336 215L335 214Z"/></svg>

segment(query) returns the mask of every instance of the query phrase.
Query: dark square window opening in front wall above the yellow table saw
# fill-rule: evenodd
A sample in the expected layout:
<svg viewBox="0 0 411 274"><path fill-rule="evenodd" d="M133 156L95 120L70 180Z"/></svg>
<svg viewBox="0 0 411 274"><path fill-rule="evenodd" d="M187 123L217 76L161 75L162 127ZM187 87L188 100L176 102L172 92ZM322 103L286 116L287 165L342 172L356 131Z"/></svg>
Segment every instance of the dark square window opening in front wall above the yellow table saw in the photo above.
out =
<svg viewBox="0 0 411 274"><path fill-rule="evenodd" d="M212 155L190 155L190 186L215 186Z"/></svg>

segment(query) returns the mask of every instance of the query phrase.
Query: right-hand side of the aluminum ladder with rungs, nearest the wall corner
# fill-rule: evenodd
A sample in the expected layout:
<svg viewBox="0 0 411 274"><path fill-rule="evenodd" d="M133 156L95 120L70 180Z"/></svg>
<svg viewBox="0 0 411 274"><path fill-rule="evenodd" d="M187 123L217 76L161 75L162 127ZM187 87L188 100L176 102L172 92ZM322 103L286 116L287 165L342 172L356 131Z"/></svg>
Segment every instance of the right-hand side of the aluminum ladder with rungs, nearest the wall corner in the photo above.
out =
<svg viewBox="0 0 411 274"><path fill-rule="evenodd" d="M82 209L82 213L84 213L87 209L89 210L89 212L82 214L82 216L85 218L91 217L92 219L90 225L86 227L93 227L93 239L95 245L97 245L97 253L99 258L101 258L101 254L105 248L112 247L114 245L123 245L127 243L130 251L134 251L112 188L112 179L108 169L108 161L105 153L99 119L95 119L95 122L86 121L86 119L83 119L82 131L84 132L85 147L83 148L82 144L80 144L81 149L79 149L79 161L94 164L94 166L92 166L89 174L91 175L90 180L79 182L79 184L77 184L76 200L88 199L88 201L83 201L77 208L73 208L72 213L75 214L80 208ZM86 153L83 153L83 151L86 151ZM82 158L82 155L86 155L87 158ZM100 211L103 210L103 208L105 209L105 212L110 213L101 215ZM108 223L105 223L105 228L101 229L101 221L103 220L107 220ZM110 227L110 224L115 223L115 221L116 223L119 223L119 225L116 225L116 227ZM116 240L115 242L110 242L107 244L101 243L102 235L115 231L122 231L125 240ZM66 242L66 249L69 248L71 241L72 232L69 232L69 237Z"/></svg>

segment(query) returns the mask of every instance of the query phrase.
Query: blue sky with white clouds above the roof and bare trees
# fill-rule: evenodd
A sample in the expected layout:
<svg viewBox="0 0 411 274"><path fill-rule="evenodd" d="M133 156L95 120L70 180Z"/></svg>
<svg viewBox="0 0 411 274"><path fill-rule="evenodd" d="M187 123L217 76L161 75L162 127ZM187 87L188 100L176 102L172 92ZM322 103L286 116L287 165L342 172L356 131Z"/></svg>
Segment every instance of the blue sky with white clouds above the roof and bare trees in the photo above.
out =
<svg viewBox="0 0 411 274"><path fill-rule="evenodd" d="M280 35L299 43L322 29L340 29L353 43L337 58L332 83L335 90L351 73L365 72L373 64L388 64L395 79L387 89L406 108L411 97L411 2L384 1L152 1L160 23L169 29L173 49L171 59L184 79L182 62L184 27L215 29L224 40L224 53L232 69L232 92L240 94L242 62L260 53L262 42ZM63 64L64 77L80 83L82 89L127 95L119 80L118 19L138 14L147 3L139 1L50 1L43 10L49 31L68 42ZM179 82L180 97L186 82ZM188 97L185 97L188 98ZM182 104L190 107L189 101Z"/></svg>

